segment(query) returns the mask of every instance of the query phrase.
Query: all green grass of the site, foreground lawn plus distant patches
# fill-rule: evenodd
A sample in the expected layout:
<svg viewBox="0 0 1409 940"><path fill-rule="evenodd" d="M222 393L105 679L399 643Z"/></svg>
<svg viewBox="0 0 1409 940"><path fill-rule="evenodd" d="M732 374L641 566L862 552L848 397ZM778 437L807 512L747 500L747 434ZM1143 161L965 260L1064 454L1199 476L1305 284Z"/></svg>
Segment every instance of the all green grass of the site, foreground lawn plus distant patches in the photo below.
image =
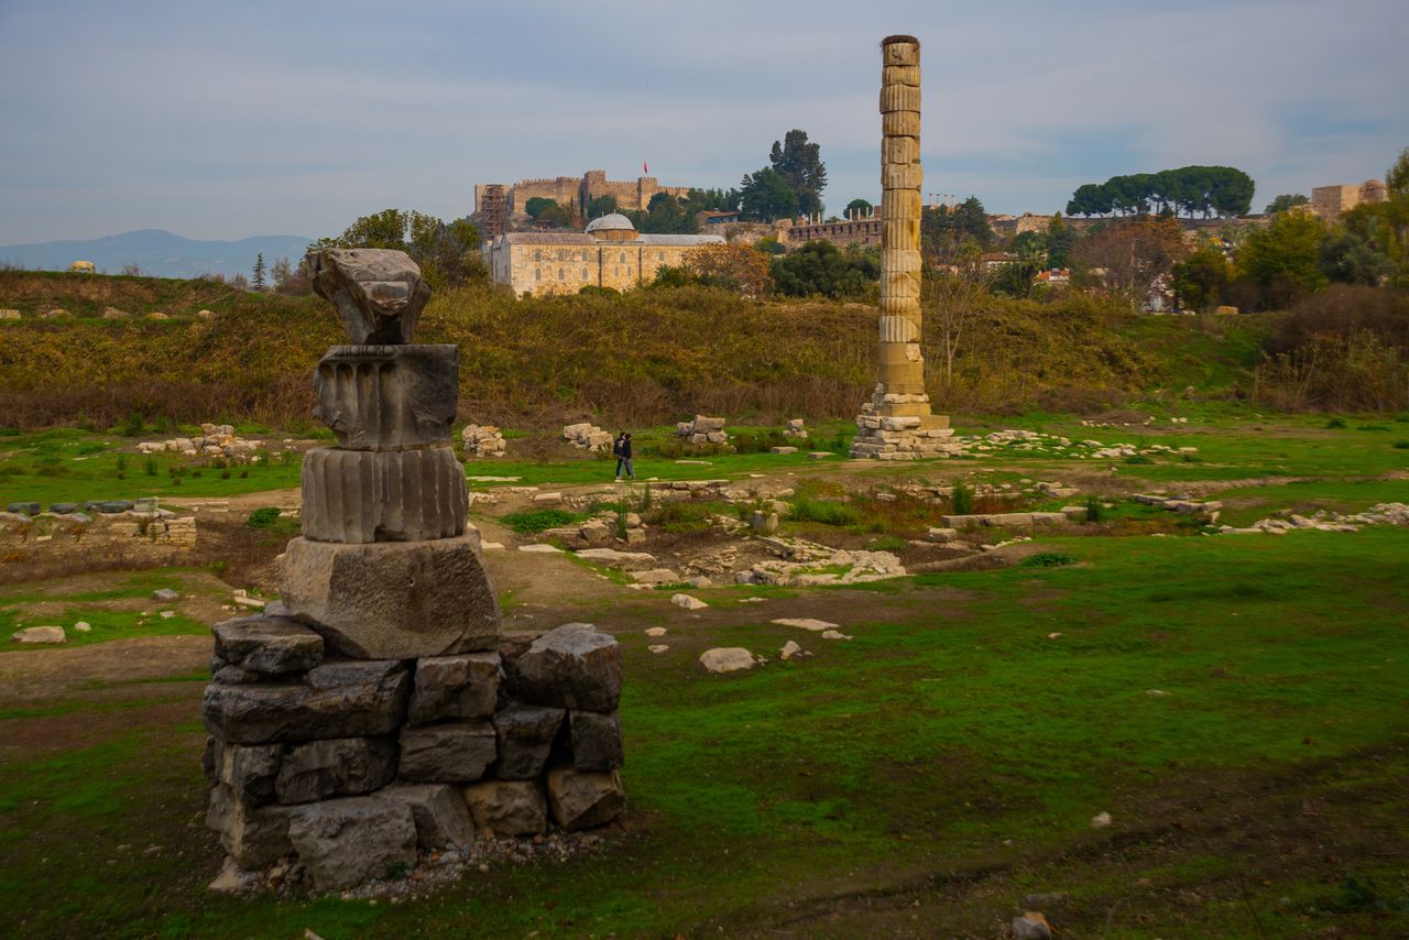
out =
<svg viewBox="0 0 1409 940"><path fill-rule="evenodd" d="M1061 416L1026 424L1137 437ZM1241 521L1409 502L1409 451L1358 424L1409 430L1222 416L1147 431L1196 445L1199 462L1113 465L1150 486L1195 474L1185 479ZM834 472L771 455L704 459L672 466L696 478ZM1109 465L1000 452L862 469L878 481L1041 479ZM571 483L602 466L469 472ZM1286 479L1299 476L1315 479ZM0 919L39 937L988 937L1005 936L1026 893L1062 892L1044 912L1067 937L1409 934L1409 530L1038 543L1075 564L865 589L714 588L696 592L712 605L699 616L668 592L565 598L623 644L627 826L597 853L471 872L416 902L204 891L218 853L203 827L193 668L6 696ZM159 579L124 574L63 605L77 616L131 602ZM10 589L0 617L48 590ZM836 620L854 640L769 623L782 616ZM94 641L137 629L99 636L93 623ZM648 640L658 624L668 636ZM786 640L814 655L778 661ZM671 650L648 653L658 641ZM710 676L693 660L714 645L772 661ZM1113 822L1093 829L1100 812Z"/></svg>

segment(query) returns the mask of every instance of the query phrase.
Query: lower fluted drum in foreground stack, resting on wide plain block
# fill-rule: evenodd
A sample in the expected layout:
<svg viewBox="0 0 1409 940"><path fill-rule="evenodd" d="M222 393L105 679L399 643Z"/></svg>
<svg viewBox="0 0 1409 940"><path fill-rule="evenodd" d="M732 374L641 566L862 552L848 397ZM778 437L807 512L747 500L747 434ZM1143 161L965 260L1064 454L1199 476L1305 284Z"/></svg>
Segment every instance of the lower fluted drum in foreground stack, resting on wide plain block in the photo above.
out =
<svg viewBox="0 0 1409 940"><path fill-rule="evenodd" d="M449 447L342 451L303 458L303 536L364 544L465 534L465 469Z"/></svg>

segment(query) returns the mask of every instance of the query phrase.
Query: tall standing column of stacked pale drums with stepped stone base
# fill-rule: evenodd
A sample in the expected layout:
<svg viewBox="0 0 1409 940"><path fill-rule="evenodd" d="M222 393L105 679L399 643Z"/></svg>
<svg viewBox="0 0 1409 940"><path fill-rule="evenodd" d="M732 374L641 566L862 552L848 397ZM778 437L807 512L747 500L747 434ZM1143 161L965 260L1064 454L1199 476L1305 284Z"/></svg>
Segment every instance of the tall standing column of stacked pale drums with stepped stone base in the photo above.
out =
<svg viewBox="0 0 1409 940"><path fill-rule="evenodd" d="M881 42L881 337L878 382L857 417L852 457L947 454L950 420L930 412L920 354L920 41Z"/></svg>

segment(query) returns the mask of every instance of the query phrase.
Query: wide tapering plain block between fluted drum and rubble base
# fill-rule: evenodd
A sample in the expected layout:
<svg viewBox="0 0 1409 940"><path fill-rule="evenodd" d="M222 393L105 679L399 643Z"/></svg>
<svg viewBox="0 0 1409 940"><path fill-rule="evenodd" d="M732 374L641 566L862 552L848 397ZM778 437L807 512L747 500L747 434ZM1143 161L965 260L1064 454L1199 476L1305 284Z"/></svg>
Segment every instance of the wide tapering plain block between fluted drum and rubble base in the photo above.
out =
<svg viewBox="0 0 1409 940"><path fill-rule="evenodd" d="M368 545L294 538L285 550L282 593L289 610L344 655L411 660L499 640L499 599L478 531Z"/></svg>

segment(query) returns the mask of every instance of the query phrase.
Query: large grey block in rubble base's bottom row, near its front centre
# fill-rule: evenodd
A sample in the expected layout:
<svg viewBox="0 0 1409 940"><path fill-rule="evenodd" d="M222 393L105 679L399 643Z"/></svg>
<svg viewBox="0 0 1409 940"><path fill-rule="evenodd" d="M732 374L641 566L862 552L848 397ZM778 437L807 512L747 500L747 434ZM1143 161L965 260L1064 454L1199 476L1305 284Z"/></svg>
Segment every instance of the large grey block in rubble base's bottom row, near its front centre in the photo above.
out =
<svg viewBox="0 0 1409 940"><path fill-rule="evenodd" d="M402 800L349 796L296 806L289 841L318 891L385 878L416 864L416 819Z"/></svg>

